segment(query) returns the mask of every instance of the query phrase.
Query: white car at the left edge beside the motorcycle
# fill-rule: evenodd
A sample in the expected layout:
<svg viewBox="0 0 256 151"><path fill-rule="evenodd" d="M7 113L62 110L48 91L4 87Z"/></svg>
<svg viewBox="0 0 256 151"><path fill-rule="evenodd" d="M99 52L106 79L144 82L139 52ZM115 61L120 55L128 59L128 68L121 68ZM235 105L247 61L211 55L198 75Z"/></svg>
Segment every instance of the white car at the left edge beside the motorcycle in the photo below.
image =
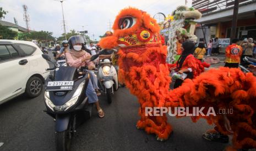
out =
<svg viewBox="0 0 256 151"><path fill-rule="evenodd" d="M39 96L49 64L33 42L0 40L0 104L25 94Z"/></svg>

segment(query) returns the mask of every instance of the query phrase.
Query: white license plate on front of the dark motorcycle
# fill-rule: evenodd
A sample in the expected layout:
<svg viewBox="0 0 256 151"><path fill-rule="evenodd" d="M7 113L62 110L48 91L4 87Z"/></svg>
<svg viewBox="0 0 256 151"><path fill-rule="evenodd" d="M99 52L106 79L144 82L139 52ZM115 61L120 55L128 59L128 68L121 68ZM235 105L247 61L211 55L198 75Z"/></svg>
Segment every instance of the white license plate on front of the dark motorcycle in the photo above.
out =
<svg viewBox="0 0 256 151"><path fill-rule="evenodd" d="M73 90L74 81L56 81L48 82L46 85L46 91L63 91L63 90Z"/></svg>

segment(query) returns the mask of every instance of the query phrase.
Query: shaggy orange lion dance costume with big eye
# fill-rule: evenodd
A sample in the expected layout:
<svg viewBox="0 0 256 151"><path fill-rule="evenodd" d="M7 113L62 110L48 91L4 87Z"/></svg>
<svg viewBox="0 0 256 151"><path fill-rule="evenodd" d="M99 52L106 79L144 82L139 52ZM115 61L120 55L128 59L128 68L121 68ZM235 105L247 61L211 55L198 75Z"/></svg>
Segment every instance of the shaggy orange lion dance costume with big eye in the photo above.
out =
<svg viewBox="0 0 256 151"><path fill-rule="evenodd" d="M166 140L172 131L165 114L146 116L145 107L233 106L236 115L229 118L235 131L235 148L256 147L256 78L252 74L244 74L239 69L213 69L194 80L185 80L175 90L169 90L167 49L161 44L156 21L145 11L127 8L117 15L113 31L113 36L102 38L99 44L105 49L121 47L118 51L118 76L140 103L138 129L155 133L157 140ZM197 121L198 118L192 119ZM221 115L203 118L227 134Z"/></svg>

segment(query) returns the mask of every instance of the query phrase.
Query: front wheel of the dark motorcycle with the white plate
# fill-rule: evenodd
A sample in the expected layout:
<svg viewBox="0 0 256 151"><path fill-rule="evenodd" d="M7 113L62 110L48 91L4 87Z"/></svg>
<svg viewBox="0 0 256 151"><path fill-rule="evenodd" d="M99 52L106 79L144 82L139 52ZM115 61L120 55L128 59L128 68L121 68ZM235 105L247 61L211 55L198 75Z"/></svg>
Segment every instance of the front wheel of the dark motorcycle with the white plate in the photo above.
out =
<svg viewBox="0 0 256 151"><path fill-rule="evenodd" d="M63 132L56 132L56 150L69 151L71 148L72 134L70 129Z"/></svg>

